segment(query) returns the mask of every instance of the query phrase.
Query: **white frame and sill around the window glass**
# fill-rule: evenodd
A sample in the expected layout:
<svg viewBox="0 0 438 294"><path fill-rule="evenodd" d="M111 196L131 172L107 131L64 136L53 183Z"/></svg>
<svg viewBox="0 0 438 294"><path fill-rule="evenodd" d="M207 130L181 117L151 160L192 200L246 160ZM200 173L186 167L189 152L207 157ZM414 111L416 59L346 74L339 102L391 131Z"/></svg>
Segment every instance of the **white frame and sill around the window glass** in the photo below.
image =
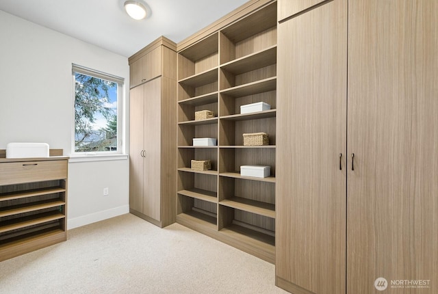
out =
<svg viewBox="0 0 438 294"><path fill-rule="evenodd" d="M80 73L82 75L88 75L90 77L96 77L98 79L105 79L107 81L112 81L118 84L117 87L117 150L116 151L96 151L96 152L76 152L75 151L75 73ZM92 70L84 66L79 66L77 64L72 64L72 100L73 100L73 118L72 118L72 136L71 136L71 152L70 156L77 157L87 157L88 160L108 160L108 155L123 155L123 138L125 133L123 131L123 100L124 100L124 89L125 89L125 79L122 77L117 77L115 75L109 75L105 72L99 72L98 70ZM91 155L91 156L90 156ZM90 158L94 157L94 159ZM116 159L116 158L114 158ZM114 160L110 159L110 160ZM121 159L121 158L120 158ZM123 157L125 159L125 157ZM72 161L72 159L70 159ZM75 161L75 159L73 159ZM78 161L84 161L79 159Z"/></svg>

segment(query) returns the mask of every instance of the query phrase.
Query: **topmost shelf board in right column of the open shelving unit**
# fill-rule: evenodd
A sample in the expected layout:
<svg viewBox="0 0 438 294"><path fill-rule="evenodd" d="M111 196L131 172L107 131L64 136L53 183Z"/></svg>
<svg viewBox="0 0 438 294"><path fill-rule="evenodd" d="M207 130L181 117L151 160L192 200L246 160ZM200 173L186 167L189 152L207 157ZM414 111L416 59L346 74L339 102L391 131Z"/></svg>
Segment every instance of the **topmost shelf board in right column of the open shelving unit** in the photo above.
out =
<svg viewBox="0 0 438 294"><path fill-rule="evenodd" d="M272 64L276 64L276 45L270 46L266 50L227 62L220 66L220 68L227 70L227 72L231 72L234 75L240 75L244 72L250 72L251 70L263 68Z"/></svg>

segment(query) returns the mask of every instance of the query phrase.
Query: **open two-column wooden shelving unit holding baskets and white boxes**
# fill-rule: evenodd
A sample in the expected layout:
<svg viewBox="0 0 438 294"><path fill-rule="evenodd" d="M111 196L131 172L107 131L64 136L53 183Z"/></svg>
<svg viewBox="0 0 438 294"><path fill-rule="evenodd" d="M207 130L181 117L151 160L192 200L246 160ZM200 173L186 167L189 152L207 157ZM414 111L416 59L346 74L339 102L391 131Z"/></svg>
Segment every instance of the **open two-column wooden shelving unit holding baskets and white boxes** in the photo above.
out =
<svg viewBox="0 0 438 294"><path fill-rule="evenodd" d="M258 3L178 48L177 222L274 263L276 1ZM271 109L240 114L257 102ZM201 110L214 118L194 120ZM244 146L244 133L259 132L268 146ZM195 137L218 146L192 146ZM192 159L211 170L191 170ZM240 165L269 165L271 176L241 176Z"/></svg>

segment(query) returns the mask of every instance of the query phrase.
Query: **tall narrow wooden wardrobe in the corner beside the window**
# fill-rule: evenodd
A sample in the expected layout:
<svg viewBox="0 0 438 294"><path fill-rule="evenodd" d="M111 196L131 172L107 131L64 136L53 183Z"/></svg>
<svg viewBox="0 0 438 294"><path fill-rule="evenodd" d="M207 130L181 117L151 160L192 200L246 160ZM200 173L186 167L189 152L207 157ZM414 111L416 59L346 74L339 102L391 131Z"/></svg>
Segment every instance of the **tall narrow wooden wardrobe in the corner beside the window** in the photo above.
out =
<svg viewBox="0 0 438 294"><path fill-rule="evenodd" d="M129 57L129 211L160 227L176 218L176 64L164 37Z"/></svg>

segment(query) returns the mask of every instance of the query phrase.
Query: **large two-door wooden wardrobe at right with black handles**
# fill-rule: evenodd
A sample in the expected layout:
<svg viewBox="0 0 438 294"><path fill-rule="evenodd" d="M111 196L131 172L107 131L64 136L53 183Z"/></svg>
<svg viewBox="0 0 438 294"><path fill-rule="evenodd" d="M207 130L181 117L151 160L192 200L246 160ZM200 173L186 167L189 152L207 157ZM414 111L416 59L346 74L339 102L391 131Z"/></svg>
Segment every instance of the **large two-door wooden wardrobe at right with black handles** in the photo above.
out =
<svg viewBox="0 0 438 294"><path fill-rule="evenodd" d="M278 8L276 284L438 293L438 1Z"/></svg>

